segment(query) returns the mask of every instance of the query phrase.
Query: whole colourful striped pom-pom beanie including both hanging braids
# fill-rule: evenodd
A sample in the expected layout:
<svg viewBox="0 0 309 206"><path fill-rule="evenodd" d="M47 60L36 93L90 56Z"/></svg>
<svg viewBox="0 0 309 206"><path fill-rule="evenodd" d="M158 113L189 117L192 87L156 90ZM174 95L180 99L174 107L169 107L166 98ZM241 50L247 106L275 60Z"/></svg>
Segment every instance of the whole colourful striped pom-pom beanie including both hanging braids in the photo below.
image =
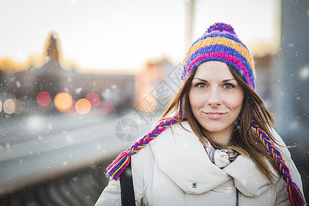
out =
<svg viewBox="0 0 309 206"><path fill-rule="evenodd" d="M242 43L231 25L225 23L215 23L211 25L207 32L203 34L201 38L198 38L189 51L187 52L185 59L183 60L183 71L181 74L181 80L185 80L190 76L190 73L194 71L203 62L216 60L225 62L227 65L231 65L240 73L251 89L255 89L254 80L254 63L253 58ZM182 102L180 102L182 103ZM179 113L170 119L163 120L154 129L150 130L144 137L137 140L130 148L119 154L119 156L106 168L107 176L117 181L120 174L124 172L124 168L130 162L130 157L135 155L139 150L144 148L150 141L160 135L163 130L176 124L176 122L182 121L182 109L179 106ZM306 205L304 196L301 194L299 187L292 181L288 167L286 166L284 159L279 150L271 141L271 138L262 130L262 128L253 122L253 128L255 128L260 141L266 147L269 154L275 159L275 162L280 170L280 173L288 183L288 197L291 205Z"/></svg>

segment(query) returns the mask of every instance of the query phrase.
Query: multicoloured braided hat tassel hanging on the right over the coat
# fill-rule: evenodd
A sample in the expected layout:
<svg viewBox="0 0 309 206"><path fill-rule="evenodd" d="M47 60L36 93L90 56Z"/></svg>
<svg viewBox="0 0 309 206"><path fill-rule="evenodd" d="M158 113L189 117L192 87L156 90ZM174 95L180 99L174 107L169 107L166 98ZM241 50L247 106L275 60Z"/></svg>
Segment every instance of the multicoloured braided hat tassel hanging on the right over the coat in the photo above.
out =
<svg viewBox="0 0 309 206"><path fill-rule="evenodd" d="M277 150L271 139L268 137L268 135L266 135L264 130L262 130L262 128L260 128L258 124L253 122L253 127L256 129L258 137L260 137L260 140L262 141L268 152L271 154L273 159L275 159L284 181L288 183L287 189L290 204L293 206L307 205L304 196L301 194L299 190L299 187L297 187L297 185L292 181L290 171L288 170L288 167L286 166L284 160L282 159L279 150Z"/></svg>

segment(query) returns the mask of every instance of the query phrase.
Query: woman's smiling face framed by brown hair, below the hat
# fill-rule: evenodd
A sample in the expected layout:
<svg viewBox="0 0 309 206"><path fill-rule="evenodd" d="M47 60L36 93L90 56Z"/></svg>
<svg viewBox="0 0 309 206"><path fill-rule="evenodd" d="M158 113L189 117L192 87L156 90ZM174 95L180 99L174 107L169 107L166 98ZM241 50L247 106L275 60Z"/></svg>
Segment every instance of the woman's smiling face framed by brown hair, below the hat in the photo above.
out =
<svg viewBox="0 0 309 206"><path fill-rule="evenodd" d="M211 61L198 66L189 99L194 117L211 137L231 137L244 91L225 63Z"/></svg>

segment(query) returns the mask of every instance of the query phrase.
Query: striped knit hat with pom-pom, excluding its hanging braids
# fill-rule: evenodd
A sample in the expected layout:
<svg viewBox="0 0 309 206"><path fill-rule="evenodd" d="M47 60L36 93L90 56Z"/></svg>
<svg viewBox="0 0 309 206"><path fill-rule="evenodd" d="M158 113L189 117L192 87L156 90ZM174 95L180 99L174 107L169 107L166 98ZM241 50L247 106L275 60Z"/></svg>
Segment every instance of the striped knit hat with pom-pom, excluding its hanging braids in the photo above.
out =
<svg viewBox="0 0 309 206"><path fill-rule="evenodd" d="M185 82L198 65L213 60L234 67L249 87L255 89L253 58L231 25L215 23L192 44L183 60L181 80Z"/></svg>

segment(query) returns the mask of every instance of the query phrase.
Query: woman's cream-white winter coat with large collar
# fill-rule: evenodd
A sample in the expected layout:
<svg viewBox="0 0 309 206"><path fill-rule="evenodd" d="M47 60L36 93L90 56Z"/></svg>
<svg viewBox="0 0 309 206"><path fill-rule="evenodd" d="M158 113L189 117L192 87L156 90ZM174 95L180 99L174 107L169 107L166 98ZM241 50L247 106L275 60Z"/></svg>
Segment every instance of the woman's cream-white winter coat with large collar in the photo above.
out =
<svg viewBox="0 0 309 206"><path fill-rule="evenodd" d="M136 205L290 205L282 177L268 181L243 155L221 170L209 160L190 125L183 122L183 126L190 131L175 124L132 157ZM290 152L279 148L302 192ZM121 205L119 180L108 183L96 205Z"/></svg>

